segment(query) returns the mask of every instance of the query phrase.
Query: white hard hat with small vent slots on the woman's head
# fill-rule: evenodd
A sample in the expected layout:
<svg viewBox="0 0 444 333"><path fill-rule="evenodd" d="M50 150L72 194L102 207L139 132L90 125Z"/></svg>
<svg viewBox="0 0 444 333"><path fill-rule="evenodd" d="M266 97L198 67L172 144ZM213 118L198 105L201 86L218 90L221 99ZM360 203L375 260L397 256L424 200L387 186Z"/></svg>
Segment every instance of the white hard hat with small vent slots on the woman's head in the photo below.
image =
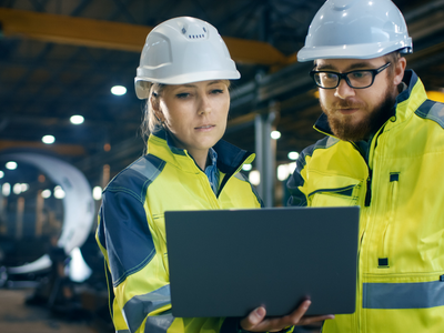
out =
<svg viewBox="0 0 444 333"><path fill-rule="evenodd" d="M218 30L205 21L181 17L148 34L134 83L138 98L145 99L148 91L140 81L183 84L240 77Z"/></svg>

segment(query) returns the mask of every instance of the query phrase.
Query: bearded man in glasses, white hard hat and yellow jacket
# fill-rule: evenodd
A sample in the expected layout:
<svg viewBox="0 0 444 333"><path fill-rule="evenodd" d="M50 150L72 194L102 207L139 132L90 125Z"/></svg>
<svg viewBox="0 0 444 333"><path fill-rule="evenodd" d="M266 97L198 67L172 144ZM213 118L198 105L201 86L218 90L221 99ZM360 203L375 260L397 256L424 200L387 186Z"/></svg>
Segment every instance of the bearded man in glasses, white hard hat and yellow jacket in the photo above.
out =
<svg viewBox="0 0 444 333"><path fill-rule="evenodd" d="M444 105L405 70L410 52L390 0L329 0L297 53L326 137L301 153L289 203L361 206L356 311L323 333L444 332Z"/></svg>

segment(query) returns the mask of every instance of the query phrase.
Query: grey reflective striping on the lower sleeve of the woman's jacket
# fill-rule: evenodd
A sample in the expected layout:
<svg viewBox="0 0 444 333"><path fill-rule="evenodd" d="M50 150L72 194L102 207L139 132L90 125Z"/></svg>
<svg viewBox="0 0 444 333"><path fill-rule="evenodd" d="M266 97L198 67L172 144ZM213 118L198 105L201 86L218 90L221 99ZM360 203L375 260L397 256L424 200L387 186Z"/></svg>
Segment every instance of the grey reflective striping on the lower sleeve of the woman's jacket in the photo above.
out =
<svg viewBox="0 0 444 333"><path fill-rule="evenodd" d="M123 313L127 317L127 323L128 323L128 326L130 327L130 331L135 332L140 327L142 322L145 320L145 317L149 313L151 313L167 304L170 304L170 303L171 303L171 297L170 297L170 285L169 284L167 284L151 293L132 297L123 306ZM167 325L168 322L170 324L172 322L172 319L170 319L170 316L171 315L159 316L159 321L151 320L151 317L149 317L149 320L147 320L145 326L147 325L153 326L153 325L159 324L161 331L152 331L152 332L164 332L164 331L162 331L164 329L164 325ZM152 316L152 319L155 319L155 317L158 317L158 316ZM167 329L170 326L170 324L167 326ZM151 330L153 330L153 327L151 327Z"/></svg>

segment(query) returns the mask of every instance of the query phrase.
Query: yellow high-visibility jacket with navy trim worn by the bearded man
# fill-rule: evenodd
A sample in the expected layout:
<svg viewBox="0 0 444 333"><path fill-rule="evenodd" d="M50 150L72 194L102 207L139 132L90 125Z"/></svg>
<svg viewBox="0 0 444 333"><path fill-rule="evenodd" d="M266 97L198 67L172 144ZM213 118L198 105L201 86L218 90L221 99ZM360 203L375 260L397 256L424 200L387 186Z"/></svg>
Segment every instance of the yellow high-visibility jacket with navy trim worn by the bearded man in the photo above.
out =
<svg viewBox="0 0 444 333"><path fill-rule="evenodd" d="M444 104L413 71L404 82L367 162L329 135L301 153L287 183L292 205L361 206L356 311L323 333L444 332ZM324 115L315 127L331 134Z"/></svg>

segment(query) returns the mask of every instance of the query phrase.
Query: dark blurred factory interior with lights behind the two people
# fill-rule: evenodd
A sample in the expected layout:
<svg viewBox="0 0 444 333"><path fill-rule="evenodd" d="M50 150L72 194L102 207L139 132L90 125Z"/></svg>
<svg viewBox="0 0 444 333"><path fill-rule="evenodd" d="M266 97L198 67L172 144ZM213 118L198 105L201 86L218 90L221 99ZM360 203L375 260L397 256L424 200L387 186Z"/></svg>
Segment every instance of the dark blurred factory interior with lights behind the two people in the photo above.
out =
<svg viewBox="0 0 444 333"><path fill-rule="evenodd" d="M1 332L69 330L58 319L113 332L97 210L143 153L133 79L147 34L167 19L203 19L225 40L242 78L224 139L256 153L242 172L266 206L285 205L294 160L323 137L312 64L296 61L323 2L0 0ZM394 3L413 38L407 68L444 101L444 0Z"/></svg>

